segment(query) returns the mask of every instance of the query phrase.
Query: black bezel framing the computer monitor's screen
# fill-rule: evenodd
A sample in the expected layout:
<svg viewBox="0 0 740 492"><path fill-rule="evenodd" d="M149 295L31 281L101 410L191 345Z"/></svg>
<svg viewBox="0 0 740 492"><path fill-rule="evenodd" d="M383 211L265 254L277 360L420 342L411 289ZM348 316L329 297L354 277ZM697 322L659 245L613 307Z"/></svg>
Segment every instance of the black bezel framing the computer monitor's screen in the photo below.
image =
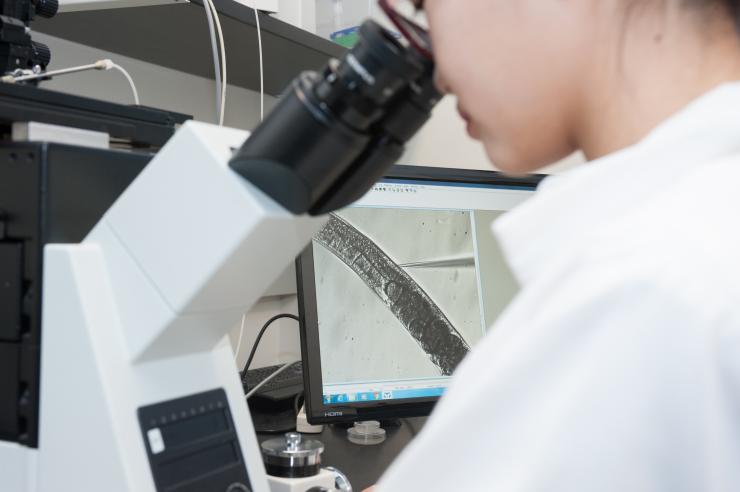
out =
<svg viewBox="0 0 740 492"><path fill-rule="evenodd" d="M543 175L507 176L496 171L394 166L382 180L482 184L534 191L543 178ZM349 423L429 415L439 397L353 402L341 406L324 404L313 242L309 243L296 259L296 277L304 401L308 422L311 424Z"/></svg>

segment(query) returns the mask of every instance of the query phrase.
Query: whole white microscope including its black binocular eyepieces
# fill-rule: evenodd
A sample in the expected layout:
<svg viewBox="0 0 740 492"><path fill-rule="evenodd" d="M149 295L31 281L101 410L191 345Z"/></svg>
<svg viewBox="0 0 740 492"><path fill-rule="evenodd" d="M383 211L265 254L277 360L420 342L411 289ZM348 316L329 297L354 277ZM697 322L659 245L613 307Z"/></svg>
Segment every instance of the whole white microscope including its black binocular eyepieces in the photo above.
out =
<svg viewBox="0 0 740 492"><path fill-rule="evenodd" d="M228 332L400 157L433 71L367 21L250 136L185 123L84 241L47 245L39 443L0 489L270 490Z"/></svg>

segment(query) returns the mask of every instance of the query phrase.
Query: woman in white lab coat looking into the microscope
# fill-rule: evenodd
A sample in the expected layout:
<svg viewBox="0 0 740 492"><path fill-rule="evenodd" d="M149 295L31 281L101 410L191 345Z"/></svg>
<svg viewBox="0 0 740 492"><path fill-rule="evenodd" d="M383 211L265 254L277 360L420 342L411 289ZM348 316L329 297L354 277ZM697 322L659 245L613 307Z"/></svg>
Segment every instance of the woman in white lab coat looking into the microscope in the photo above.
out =
<svg viewBox="0 0 740 492"><path fill-rule="evenodd" d="M378 490L740 490L740 1L427 0L521 284Z"/></svg>

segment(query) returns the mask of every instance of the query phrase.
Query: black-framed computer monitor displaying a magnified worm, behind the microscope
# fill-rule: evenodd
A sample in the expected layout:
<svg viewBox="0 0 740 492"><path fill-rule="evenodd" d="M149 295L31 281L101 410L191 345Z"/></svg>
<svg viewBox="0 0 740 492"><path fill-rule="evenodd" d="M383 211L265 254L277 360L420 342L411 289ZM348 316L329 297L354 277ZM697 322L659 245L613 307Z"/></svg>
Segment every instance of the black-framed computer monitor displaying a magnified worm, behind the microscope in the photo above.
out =
<svg viewBox="0 0 740 492"><path fill-rule="evenodd" d="M297 261L311 423L423 416L516 292L491 233L540 176L396 166Z"/></svg>

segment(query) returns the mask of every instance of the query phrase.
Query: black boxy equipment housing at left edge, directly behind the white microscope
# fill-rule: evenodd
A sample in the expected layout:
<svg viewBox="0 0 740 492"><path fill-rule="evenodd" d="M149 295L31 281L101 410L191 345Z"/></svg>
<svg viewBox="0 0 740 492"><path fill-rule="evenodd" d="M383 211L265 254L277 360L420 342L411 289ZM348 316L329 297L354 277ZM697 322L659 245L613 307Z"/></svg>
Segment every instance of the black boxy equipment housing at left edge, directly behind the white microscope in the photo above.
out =
<svg viewBox="0 0 740 492"><path fill-rule="evenodd" d="M82 241L151 158L0 146L0 440L38 445L44 246Z"/></svg>

